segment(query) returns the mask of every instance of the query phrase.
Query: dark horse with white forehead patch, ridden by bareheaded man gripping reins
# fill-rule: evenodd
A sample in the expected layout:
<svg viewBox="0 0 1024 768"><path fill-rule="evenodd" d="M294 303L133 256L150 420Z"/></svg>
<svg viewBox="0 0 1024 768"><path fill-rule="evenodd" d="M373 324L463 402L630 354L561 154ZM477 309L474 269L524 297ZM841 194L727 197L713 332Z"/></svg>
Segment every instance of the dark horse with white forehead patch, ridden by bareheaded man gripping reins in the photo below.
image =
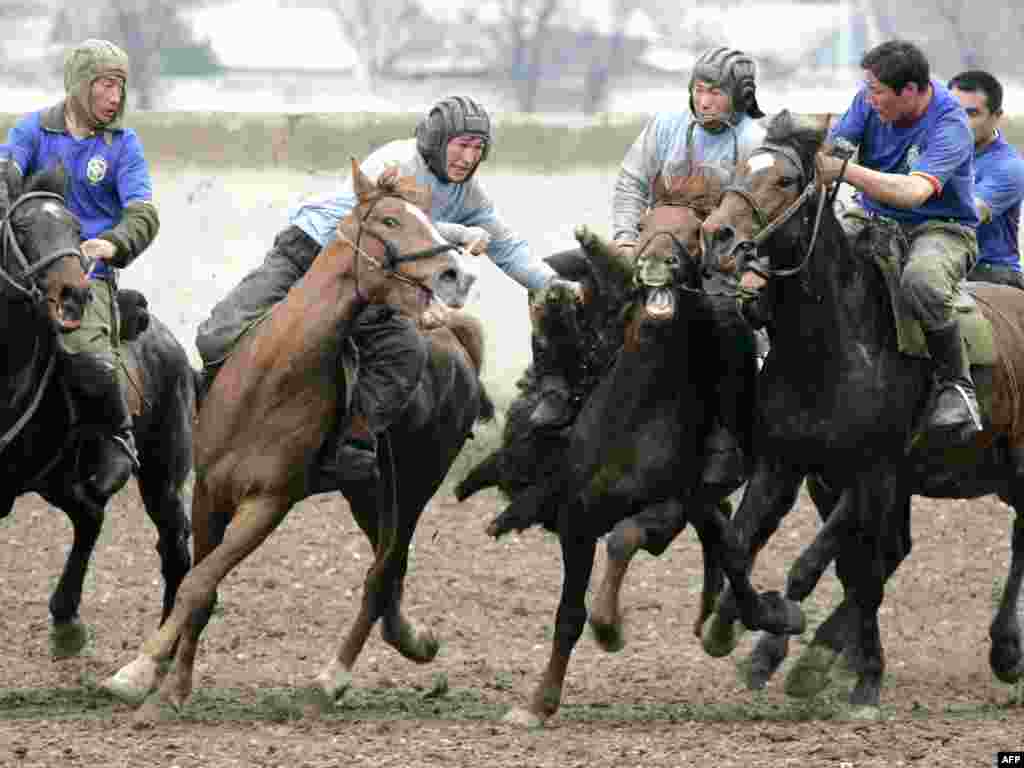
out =
<svg viewBox="0 0 1024 768"><path fill-rule="evenodd" d="M963 450L937 451L914 440L931 390L931 364L898 348L896 313L886 278L864 250L885 230L868 227L851 244L815 175L823 123L788 112L771 122L762 147L703 223L706 266L731 269L746 254L767 254L760 301L772 317L772 349L759 381L758 462L734 524L752 568L757 552L792 508L805 474L830 486L835 509L786 580L802 600L828 562L846 588L844 601L817 629L791 672L786 691L812 695L827 684L840 653L852 657L855 717L877 717L884 675L878 611L886 580L909 554L910 498L971 499L997 494L1014 507L1012 562L989 629L989 664L1004 682L1024 676L1016 604L1024 579L1024 416L1016 381L1022 368L1024 295L1004 286L967 284L991 324L995 365L974 366L985 428ZM881 240L880 240L881 239ZM710 627L713 655L735 646L735 607L723 596ZM762 638L755 663L766 679L784 643Z"/></svg>

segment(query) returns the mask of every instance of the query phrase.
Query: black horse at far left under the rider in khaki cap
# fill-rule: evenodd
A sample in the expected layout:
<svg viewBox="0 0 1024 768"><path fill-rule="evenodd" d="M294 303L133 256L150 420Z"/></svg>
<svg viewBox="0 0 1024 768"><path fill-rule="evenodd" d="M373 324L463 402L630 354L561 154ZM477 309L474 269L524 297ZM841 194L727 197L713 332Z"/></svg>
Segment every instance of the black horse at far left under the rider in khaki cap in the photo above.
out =
<svg viewBox="0 0 1024 768"><path fill-rule="evenodd" d="M0 209L0 518L10 514L19 496L36 493L72 523L72 548L49 600L50 647L54 656L63 657L81 652L92 634L79 610L109 501L84 489L84 479L96 470L94 446L101 436L69 393L61 376L69 362L56 343L57 334L81 326L90 300L87 265L79 248L78 218L65 205L61 165L24 181L8 171L0 183L12 201ZM130 299L137 303L137 294L132 292ZM196 373L167 327L147 313L142 316L147 327L121 349L133 384L129 400L141 465L138 488L158 531L163 622L191 564L183 494L191 470ZM132 326L138 331L138 317L133 311L122 330Z"/></svg>

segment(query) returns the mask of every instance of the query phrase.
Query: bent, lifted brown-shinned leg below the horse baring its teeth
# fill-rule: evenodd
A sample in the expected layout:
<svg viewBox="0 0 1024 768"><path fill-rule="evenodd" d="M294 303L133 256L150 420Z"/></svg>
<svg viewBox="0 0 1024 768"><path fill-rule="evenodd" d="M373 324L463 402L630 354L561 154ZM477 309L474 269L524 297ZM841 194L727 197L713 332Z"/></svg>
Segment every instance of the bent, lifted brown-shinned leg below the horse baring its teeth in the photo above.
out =
<svg viewBox="0 0 1024 768"><path fill-rule="evenodd" d="M685 527L683 505L668 500L620 520L612 528L604 578L590 611L591 629L604 650L615 652L626 646L620 598L633 557L641 549L659 555Z"/></svg>

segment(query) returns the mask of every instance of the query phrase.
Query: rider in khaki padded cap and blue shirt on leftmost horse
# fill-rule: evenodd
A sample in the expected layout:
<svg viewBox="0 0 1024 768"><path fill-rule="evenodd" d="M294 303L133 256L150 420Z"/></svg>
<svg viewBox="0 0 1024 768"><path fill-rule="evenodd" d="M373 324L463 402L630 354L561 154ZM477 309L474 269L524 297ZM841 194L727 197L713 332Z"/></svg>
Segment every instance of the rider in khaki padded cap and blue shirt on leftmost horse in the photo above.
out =
<svg viewBox="0 0 1024 768"><path fill-rule="evenodd" d="M22 118L7 136L9 158L0 162L26 177L57 162L67 172L65 202L82 225L82 255L92 260L92 301L81 327L57 343L69 386L104 432L99 469L85 488L105 500L139 466L118 349L117 273L150 246L160 218L142 144L122 126L128 55L106 40L86 40L69 50L63 77L65 100Z"/></svg>

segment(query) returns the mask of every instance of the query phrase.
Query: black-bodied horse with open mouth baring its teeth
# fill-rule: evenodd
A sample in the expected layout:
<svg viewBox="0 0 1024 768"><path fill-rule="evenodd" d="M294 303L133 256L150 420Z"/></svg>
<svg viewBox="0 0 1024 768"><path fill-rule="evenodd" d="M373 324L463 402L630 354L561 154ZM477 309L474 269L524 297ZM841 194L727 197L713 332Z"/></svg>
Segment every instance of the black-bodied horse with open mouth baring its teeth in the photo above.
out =
<svg viewBox="0 0 1024 768"><path fill-rule="evenodd" d="M607 649L622 647L618 591L630 558L640 547L660 553L687 521L705 551L701 617L714 604L724 569L740 582L737 589L746 590L748 621L770 624L777 632L802 631L802 616L795 617L774 596L757 595L749 582L743 584L744 573L732 567L732 537L720 506L731 488L701 483L700 452L711 428L716 379L708 359L718 354L713 314L700 289L698 264L690 257L699 227L693 190L703 183L698 176L669 185L645 217L635 264L586 227L577 231L595 283L607 289L606 295L634 281L636 289L622 321L622 348L568 430L564 464L545 478L539 516L508 520L503 513L490 527L498 534L508 525L541 522L557 532L563 561L547 667L526 708L513 708L507 722L536 727L557 712L569 658L587 621L585 595L596 543L609 531L609 567L591 615ZM753 374L753 343L751 352ZM500 468L501 460L496 461ZM494 461L488 462L484 474L494 469ZM478 479L461 490L472 489Z"/></svg>

